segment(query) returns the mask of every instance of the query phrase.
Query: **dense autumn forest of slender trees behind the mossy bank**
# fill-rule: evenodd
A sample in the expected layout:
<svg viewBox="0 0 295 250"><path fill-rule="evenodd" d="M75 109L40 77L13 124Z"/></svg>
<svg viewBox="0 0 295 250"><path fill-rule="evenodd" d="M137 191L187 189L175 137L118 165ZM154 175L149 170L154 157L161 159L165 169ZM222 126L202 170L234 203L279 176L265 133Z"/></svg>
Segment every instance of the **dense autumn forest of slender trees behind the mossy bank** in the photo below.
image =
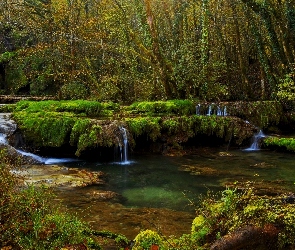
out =
<svg viewBox="0 0 295 250"><path fill-rule="evenodd" d="M0 93L293 99L294 0L3 0Z"/></svg>

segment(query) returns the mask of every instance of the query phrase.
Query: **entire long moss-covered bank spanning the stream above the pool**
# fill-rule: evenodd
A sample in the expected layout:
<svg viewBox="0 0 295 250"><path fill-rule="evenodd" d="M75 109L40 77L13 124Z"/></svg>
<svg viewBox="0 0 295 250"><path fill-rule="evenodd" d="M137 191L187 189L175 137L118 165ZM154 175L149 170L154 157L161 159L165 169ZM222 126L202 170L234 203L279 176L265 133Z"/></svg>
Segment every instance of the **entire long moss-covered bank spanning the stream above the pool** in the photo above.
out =
<svg viewBox="0 0 295 250"><path fill-rule="evenodd" d="M227 107L226 116L217 113L219 107ZM285 121L283 106L278 102L200 104L170 100L120 106L112 102L49 100L20 101L2 110L13 111L26 145L39 149L68 147L77 156L123 145L122 127L133 150L144 147L163 152L208 142L214 146L246 145L258 127L279 127Z"/></svg>

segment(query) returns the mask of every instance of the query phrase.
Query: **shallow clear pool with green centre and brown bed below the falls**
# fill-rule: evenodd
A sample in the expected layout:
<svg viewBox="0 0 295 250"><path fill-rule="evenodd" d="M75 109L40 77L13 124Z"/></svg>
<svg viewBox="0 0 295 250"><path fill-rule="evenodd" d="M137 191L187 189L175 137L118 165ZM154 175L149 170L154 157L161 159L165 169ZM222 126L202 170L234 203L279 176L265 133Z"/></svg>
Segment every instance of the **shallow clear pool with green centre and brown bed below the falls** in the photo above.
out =
<svg viewBox="0 0 295 250"><path fill-rule="evenodd" d="M59 196L99 230L134 237L141 229L161 227L166 235L180 235L190 230L195 209L190 202L197 204L197 197L208 190L251 182L271 194L292 191L293 162L291 154L212 149L185 157L137 156L130 165L75 162L67 166L105 172L107 185L62 190ZM86 195L97 190L111 190L120 196L102 201Z"/></svg>

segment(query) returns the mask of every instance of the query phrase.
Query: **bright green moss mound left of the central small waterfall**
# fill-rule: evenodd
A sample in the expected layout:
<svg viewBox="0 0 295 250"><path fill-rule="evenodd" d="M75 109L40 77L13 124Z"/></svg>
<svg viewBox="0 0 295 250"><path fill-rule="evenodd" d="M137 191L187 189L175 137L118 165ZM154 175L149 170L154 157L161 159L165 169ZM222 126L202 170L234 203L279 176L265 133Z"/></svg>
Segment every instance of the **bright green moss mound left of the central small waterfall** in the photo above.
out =
<svg viewBox="0 0 295 250"><path fill-rule="evenodd" d="M16 105L13 118L28 142L41 147L70 143L77 147L79 156L87 148L119 143L112 134L116 125L109 129L111 122L92 119L105 118L113 109L118 110L118 105L95 101L21 101Z"/></svg>

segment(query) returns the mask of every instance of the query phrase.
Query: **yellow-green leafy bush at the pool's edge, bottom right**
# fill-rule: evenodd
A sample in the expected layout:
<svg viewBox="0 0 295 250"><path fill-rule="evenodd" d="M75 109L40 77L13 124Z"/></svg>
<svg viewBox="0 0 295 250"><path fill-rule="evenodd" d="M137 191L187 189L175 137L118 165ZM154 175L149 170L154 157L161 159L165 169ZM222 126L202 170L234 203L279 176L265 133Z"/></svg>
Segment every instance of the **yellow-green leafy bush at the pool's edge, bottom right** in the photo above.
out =
<svg viewBox="0 0 295 250"><path fill-rule="evenodd" d="M246 225L263 228L272 224L280 229L279 249L295 243L295 206L279 198L259 197L253 190L238 192L227 189L217 195L208 195L197 210L192 224L191 237L196 245L209 243L207 239L219 238Z"/></svg>

